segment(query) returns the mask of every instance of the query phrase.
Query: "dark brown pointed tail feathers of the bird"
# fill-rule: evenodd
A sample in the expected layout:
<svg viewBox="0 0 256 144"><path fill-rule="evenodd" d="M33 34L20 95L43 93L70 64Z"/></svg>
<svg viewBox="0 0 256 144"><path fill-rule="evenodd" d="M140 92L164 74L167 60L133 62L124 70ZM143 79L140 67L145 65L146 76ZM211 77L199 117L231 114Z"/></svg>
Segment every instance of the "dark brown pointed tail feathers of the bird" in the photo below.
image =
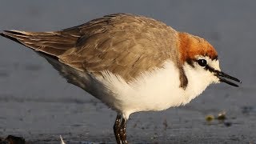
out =
<svg viewBox="0 0 256 144"><path fill-rule="evenodd" d="M26 32L18 30L4 30L3 37L21 43L33 50L41 51L58 57L75 46L78 37L60 32Z"/></svg>

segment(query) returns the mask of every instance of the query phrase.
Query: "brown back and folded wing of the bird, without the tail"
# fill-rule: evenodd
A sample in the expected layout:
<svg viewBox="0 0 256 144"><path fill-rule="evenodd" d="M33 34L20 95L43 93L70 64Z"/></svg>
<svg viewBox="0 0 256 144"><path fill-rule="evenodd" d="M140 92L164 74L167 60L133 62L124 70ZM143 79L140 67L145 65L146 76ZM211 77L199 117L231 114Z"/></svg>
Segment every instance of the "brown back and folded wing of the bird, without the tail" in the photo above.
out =
<svg viewBox="0 0 256 144"><path fill-rule="evenodd" d="M162 22L130 14L114 14L80 26L77 45L59 59L78 70L109 70L126 81L161 67L176 46L176 31Z"/></svg>

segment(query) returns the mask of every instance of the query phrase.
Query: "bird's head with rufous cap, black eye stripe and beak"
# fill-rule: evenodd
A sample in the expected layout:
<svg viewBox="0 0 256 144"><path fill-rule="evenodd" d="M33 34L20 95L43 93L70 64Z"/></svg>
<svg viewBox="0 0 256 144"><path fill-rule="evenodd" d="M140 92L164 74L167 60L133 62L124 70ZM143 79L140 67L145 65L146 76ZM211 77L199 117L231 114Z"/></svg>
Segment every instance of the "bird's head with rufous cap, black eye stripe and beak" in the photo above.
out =
<svg viewBox="0 0 256 144"><path fill-rule="evenodd" d="M189 69L190 75L188 77L194 78L194 81L200 79L207 85L226 82L231 86L238 86L230 80L241 83L238 78L222 72L219 67L217 51L205 39L187 33L179 33L178 37L180 41L178 44L179 59L183 66Z"/></svg>

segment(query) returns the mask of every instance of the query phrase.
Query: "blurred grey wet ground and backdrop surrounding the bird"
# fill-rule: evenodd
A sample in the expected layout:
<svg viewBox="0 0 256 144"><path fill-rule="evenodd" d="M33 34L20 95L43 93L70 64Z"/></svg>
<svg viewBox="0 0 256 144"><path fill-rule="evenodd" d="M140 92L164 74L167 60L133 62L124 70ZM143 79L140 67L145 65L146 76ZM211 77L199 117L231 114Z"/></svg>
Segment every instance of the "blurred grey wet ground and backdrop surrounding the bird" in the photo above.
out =
<svg viewBox="0 0 256 144"><path fill-rule="evenodd" d="M256 1L14 1L0 2L0 30L51 31L106 14L155 18L175 30L206 38L218 51L224 72L239 88L210 86L190 104L162 112L132 114L132 143L256 143L254 54ZM157 97L157 96L156 96ZM225 112L226 119L206 121ZM0 38L0 137L29 142L113 143L115 112L66 82L32 50Z"/></svg>

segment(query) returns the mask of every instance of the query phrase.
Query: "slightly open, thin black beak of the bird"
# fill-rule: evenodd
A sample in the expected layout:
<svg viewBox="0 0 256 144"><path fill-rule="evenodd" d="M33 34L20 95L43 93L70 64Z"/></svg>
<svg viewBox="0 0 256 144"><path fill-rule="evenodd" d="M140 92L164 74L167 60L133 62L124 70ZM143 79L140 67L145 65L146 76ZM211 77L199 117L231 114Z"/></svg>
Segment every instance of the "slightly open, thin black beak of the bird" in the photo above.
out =
<svg viewBox="0 0 256 144"><path fill-rule="evenodd" d="M235 82L242 83L238 78L231 77L229 74L225 74L225 73L223 73L222 71L215 70L214 72L215 72L216 76L219 78L219 81L220 81L220 82L225 82L225 83L227 83L227 84L229 84L229 85L231 85L231 86L236 86L236 87L238 87L237 84L235 84L235 83L233 83L233 82L230 82L230 81L228 81L228 80L226 79L226 78L229 78L229 79L231 79L231 80L233 80L233 81L235 81Z"/></svg>

